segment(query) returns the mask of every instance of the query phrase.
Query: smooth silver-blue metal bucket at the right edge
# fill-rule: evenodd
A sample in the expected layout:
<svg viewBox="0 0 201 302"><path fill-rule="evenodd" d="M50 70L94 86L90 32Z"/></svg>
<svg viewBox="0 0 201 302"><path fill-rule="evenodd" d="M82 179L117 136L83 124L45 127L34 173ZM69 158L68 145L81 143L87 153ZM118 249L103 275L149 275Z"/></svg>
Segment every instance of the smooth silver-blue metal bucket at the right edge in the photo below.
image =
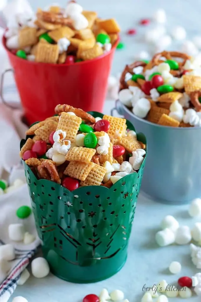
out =
<svg viewBox="0 0 201 302"><path fill-rule="evenodd" d="M141 190L156 201L184 204L201 197L201 128L175 128L136 117L119 100L117 110L147 138Z"/></svg>

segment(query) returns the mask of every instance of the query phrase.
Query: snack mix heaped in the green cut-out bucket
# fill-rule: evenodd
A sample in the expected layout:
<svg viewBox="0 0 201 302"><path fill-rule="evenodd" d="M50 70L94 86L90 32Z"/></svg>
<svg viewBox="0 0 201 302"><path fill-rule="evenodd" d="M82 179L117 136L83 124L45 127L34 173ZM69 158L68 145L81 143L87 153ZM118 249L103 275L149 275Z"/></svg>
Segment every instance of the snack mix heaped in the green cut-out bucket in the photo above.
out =
<svg viewBox="0 0 201 302"><path fill-rule="evenodd" d="M94 118L69 105L57 105L55 113L27 130L29 137L20 151L37 178L70 191L89 185L110 188L140 169L146 145L127 129L126 119Z"/></svg>

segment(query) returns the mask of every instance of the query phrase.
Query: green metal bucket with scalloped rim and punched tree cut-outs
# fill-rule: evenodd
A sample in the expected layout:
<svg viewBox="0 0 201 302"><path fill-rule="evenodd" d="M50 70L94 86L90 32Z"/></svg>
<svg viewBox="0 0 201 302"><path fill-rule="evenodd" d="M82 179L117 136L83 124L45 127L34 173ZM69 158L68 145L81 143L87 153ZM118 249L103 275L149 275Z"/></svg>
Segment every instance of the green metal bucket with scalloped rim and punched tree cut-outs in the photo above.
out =
<svg viewBox="0 0 201 302"><path fill-rule="evenodd" d="M129 121L127 126L135 130ZM137 138L146 143L142 133ZM138 173L121 178L111 188L88 186L72 192L55 182L38 180L23 162L43 255L54 275L91 283L111 277L124 266L145 160Z"/></svg>

